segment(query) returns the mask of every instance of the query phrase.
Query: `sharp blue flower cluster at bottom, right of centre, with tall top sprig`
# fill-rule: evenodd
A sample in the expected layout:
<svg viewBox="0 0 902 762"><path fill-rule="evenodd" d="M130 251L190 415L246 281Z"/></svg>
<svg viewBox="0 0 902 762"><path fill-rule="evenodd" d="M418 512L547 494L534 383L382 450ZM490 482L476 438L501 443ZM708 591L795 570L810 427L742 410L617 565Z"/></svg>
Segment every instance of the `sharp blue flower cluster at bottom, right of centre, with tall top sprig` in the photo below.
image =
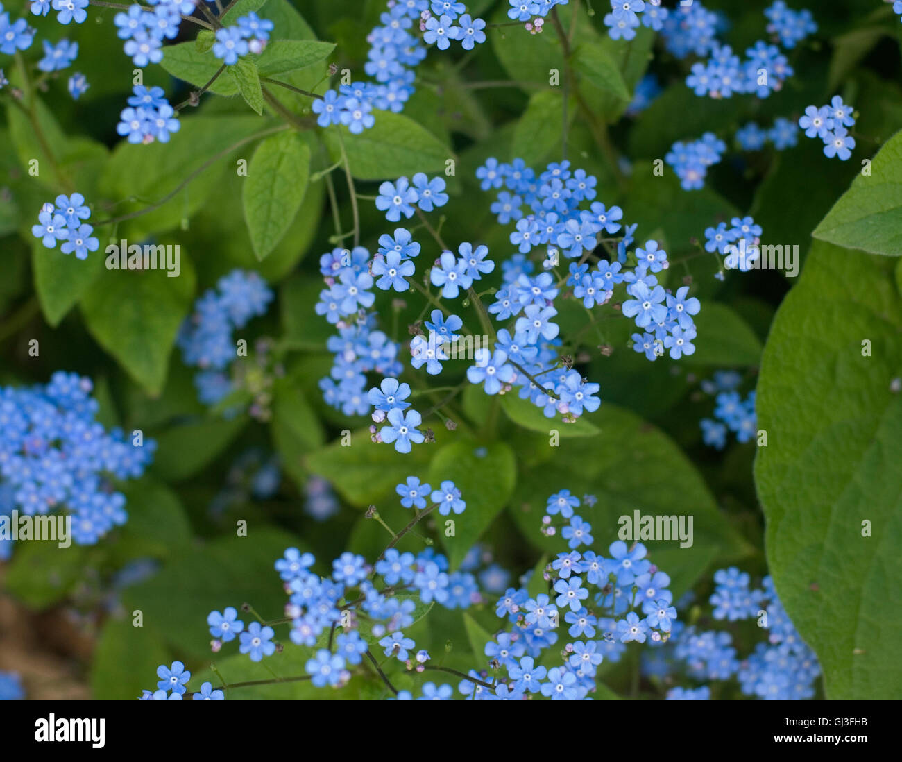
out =
<svg viewBox="0 0 902 762"><path fill-rule="evenodd" d="M584 496L587 504L594 496ZM676 624L670 578L645 557L640 543L628 547L618 540L610 557L575 547L591 546L591 527L576 516L579 498L562 490L548 498L542 532L557 533L561 521L569 552L558 553L542 573L548 592L530 594L525 587L508 588L495 605L510 631L492 637L484 649L489 665L506 672L492 691L485 690L486 673L471 670L458 690L474 699L522 699L541 693L551 699L583 699L594 691L597 667L605 657L617 662L630 642L667 641ZM552 518L554 517L554 519ZM563 620L563 621L562 621ZM543 653L555 646L566 628L570 641L560 649L563 663L538 666Z"/></svg>

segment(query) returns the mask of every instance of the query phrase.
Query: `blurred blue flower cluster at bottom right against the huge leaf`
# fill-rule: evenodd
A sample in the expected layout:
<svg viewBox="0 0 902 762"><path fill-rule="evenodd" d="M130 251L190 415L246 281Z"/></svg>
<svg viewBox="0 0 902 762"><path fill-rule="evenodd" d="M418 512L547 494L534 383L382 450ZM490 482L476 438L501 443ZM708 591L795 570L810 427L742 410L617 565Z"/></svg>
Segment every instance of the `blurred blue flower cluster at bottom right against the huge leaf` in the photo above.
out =
<svg viewBox="0 0 902 762"><path fill-rule="evenodd" d="M808 699L815 694L820 675L815 652L805 645L767 576L760 590L750 589L749 574L731 567L714 574L710 603L714 620L757 620L768 632L768 642L758 643L749 656L739 658L732 635L723 630L684 628L676 622L667 644L643 653L645 675L673 679L677 670L696 681L726 682L735 677L742 693L762 699ZM685 679L685 678L684 678ZM707 699L710 686L681 686L667 693L672 699Z"/></svg>

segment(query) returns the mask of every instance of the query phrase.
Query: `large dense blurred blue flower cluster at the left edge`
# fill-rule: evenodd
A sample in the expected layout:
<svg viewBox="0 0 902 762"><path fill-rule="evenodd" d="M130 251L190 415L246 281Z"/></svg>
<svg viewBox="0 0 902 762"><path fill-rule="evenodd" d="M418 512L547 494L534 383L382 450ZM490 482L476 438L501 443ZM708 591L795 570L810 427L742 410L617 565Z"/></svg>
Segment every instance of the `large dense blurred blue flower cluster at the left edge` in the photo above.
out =
<svg viewBox="0 0 902 762"><path fill-rule="evenodd" d="M55 372L43 386L0 387L0 477L13 508L33 516L67 510L78 545L94 545L128 519L111 479L139 477L156 443L97 423L91 381Z"/></svg>

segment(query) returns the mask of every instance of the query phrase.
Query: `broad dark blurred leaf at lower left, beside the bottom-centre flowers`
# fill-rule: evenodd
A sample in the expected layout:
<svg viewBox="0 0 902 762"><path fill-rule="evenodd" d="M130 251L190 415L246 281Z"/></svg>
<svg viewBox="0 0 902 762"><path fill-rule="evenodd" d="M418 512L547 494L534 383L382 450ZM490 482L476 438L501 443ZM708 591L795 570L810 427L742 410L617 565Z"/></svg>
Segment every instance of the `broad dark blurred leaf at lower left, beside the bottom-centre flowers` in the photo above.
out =
<svg viewBox="0 0 902 762"><path fill-rule="evenodd" d="M246 601L264 618L281 616L285 592L272 565L292 546L303 547L297 537L251 521L247 537L222 537L171 555L158 574L124 589L124 605L141 610L145 626L158 629L179 651L209 659L209 611L237 609ZM253 616L242 619L247 623Z"/></svg>

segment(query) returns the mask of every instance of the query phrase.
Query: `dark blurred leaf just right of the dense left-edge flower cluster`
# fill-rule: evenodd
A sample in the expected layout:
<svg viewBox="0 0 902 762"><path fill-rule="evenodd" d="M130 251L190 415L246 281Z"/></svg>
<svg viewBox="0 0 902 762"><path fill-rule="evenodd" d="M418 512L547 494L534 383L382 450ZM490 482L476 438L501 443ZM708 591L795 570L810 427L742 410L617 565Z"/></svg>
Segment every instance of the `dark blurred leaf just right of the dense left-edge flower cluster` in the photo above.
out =
<svg viewBox="0 0 902 762"><path fill-rule="evenodd" d="M197 473L221 454L247 424L246 416L201 418L168 428L154 436L157 451L152 471L167 482Z"/></svg>

